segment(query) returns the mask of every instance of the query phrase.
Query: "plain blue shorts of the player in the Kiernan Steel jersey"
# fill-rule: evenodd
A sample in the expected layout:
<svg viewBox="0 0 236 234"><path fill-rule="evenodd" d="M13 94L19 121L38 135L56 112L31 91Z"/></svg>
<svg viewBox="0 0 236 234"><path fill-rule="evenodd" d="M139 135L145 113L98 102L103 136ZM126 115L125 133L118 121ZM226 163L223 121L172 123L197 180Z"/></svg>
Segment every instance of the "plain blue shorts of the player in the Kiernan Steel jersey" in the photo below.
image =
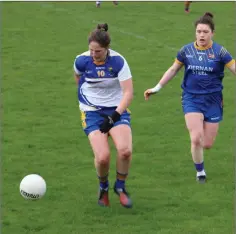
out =
<svg viewBox="0 0 236 234"><path fill-rule="evenodd" d="M182 107L184 114L202 113L205 122L218 123L223 119L222 92L211 94L191 94L183 92Z"/></svg>

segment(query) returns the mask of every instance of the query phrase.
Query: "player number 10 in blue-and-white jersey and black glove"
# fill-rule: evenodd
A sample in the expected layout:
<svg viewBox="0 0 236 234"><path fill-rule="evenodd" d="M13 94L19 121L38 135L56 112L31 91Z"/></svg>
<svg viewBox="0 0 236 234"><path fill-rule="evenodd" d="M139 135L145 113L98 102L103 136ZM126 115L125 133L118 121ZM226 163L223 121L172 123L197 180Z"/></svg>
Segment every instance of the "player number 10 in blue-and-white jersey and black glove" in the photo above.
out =
<svg viewBox="0 0 236 234"><path fill-rule="evenodd" d="M109 49L107 24L99 24L88 38L89 51L74 61L82 126L94 153L94 163L100 182L98 204L109 206L108 173L111 136L117 150L117 173L114 192L120 203L132 207L125 188L132 154L130 113L133 98L132 75L125 58Z"/></svg>

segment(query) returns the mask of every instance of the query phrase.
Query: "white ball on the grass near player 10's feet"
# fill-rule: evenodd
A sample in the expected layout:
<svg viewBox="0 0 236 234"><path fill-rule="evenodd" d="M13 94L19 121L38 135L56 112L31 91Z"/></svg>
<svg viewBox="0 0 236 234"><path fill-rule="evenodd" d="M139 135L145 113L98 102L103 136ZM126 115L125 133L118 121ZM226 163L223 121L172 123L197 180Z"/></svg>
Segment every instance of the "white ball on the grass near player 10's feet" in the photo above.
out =
<svg viewBox="0 0 236 234"><path fill-rule="evenodd" d="M20 183L20 194L27 200L38 200L46 193L46 182L40 175L25 176Z"/></svg>

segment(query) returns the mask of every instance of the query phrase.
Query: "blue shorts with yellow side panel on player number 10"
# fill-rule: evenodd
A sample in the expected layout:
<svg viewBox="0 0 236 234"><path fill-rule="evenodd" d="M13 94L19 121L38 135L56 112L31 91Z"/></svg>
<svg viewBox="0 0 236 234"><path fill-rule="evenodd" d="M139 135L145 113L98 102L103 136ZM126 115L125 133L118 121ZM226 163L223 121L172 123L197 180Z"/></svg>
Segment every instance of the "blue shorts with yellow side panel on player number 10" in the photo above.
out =
<svg viewBox="0 0 236 234"><path fill-rule="evenodd" d="M85 134L88 136L89 133L98 130L100 124L102 124L104 118L100 115L100 113L105 115L111 115L116 108L105 108L99 111L81 111L81 121L82 127L84 129ZM122 113L121 118L117 121L114 126L126 124L130 126L130 111L126 110Z"/></svg>

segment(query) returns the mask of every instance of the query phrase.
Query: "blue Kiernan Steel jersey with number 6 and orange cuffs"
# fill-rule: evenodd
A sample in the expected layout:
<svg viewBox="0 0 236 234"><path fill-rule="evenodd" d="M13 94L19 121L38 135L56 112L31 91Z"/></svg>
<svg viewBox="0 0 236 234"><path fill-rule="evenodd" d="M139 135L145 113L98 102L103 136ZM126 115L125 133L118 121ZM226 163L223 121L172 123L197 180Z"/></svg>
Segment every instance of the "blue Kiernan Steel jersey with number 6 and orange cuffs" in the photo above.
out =
<svg viewBox="0 0 236 234"><path fill-rule="evenodd" d="M212 42L208 47L199 47L196 42L183 46L176 62L184 64L182 89L192 94L209 94L222 91L225 66L235 61L221 45Z"/></svg>

